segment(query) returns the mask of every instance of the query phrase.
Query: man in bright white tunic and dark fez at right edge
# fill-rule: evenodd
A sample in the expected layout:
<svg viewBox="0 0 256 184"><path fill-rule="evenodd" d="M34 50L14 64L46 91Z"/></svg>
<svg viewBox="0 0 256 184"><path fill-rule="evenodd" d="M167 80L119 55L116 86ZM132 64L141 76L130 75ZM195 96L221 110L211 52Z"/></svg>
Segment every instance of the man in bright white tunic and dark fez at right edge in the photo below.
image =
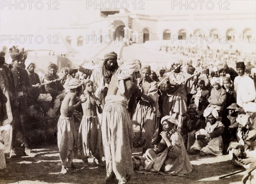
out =
<svg viewBox="0 0 256 184"><path fill-rule="evenodd" d="M236 70L239 74L234 80L234 89L236 91L236 103L241 108L246 108L255 111L256 91L253 79L245 74L244 62L236 63Z"/></svg>

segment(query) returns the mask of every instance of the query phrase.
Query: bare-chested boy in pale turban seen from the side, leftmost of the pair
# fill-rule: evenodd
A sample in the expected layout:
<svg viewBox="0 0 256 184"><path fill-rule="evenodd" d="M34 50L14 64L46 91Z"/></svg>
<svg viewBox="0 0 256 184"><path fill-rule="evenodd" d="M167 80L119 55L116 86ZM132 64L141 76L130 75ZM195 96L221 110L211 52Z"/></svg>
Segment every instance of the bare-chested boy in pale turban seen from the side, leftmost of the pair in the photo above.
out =
<svg viewBox="0 0 256 184"><path fill-rule="evenodd" d="M76 147L76 131L73 120L74 110L85 102L86 99L82 94L83 81L72 79L68 88L70 92L65 96L61 104L61 116L58 120L58 148L60 150L61 173L67 173L67 170L73 164L74 148ZM80 96L78 102L77 97Z"/></svg>

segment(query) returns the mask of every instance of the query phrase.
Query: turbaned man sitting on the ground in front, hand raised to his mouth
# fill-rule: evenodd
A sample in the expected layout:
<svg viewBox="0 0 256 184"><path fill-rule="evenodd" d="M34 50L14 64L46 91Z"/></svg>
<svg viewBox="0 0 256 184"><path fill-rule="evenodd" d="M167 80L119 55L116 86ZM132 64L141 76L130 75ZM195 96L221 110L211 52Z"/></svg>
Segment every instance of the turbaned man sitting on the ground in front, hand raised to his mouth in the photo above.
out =
<svg viewBox="0 0 256 184"><path fill-rule="evenodd" d="M176 132L178 122L172 116L161 119L163 132L161 142L145 153L145 170L158 172L162 168L165 173L183 175L192 172L186 148L180 133Z"/></svg>

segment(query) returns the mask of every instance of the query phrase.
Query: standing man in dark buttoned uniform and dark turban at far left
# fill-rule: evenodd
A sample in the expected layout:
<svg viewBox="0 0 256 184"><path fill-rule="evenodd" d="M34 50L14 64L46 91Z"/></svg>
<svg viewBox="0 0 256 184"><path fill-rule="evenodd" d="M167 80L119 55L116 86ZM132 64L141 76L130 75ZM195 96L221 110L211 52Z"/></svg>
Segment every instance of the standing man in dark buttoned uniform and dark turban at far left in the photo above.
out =
<svg viewBox="0 0 256 184"><path fill-rule="evenodd" d="M20 133L23 136L24 144L25 144L25 153L28 156L35 156L31 153L30 145L29 145L29 130L30 126L28 125L27 117L29 115L28 112L28 104L27 104L27 94L29 93L32 85L30 83L29 75L27 71L23 68L23 60L22 54L18 52L11 52L12 64L13 68L11 69L14 84L15 84L15 95L14 95L14 123L13 123L13 131L12 131L12 144L10 157L16 157L15 151L15 139L17 135L17 130L20 129Z"/></svg>

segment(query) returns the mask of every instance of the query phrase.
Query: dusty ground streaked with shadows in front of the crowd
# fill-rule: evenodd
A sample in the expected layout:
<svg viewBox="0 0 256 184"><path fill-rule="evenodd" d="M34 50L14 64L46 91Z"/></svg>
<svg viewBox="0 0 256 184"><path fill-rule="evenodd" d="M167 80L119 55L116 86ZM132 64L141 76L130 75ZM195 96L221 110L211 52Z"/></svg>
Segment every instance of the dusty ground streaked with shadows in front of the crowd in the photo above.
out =
<svg viewBox="0 0 256 184"><path fill-rule="evenodd" d="M0 170L0 184L20 183L20 184L103 184L105 178L105 167L98 167L89 159L89 168L82 168L82 160L75 159L77 170L66 175L59 174L61 161L57 145L44 145L41 148L33 149L37 156L29 158L27 156L15 159L7 159L7 168ZM134 148L134 155L140 153L140 148ZM218 176L232 173L240 168L234 167L230 163L228 155L225 156L189 156L193 165L192 173L185 177L180 176L146 176L134 174L134 178L129 184L240 184L243 173L232 177L219 179Z"/></svg>

